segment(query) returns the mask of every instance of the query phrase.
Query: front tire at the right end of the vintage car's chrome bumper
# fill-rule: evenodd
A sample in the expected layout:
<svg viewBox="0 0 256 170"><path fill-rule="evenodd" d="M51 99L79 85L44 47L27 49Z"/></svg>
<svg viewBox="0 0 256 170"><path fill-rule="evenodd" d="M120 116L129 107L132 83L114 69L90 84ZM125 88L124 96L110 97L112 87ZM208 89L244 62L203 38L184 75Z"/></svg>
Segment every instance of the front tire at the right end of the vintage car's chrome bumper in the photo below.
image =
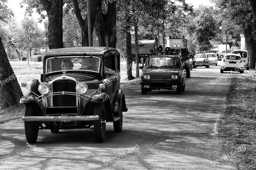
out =
<svg viewBox="0 0 256 170"><path fill-rule="evenodd" d="M106 134L106 112L104 104L94 105L93 115L99 115L99 120L93 121L93 132L95 141L98 143L104 142Z"/></svg>

